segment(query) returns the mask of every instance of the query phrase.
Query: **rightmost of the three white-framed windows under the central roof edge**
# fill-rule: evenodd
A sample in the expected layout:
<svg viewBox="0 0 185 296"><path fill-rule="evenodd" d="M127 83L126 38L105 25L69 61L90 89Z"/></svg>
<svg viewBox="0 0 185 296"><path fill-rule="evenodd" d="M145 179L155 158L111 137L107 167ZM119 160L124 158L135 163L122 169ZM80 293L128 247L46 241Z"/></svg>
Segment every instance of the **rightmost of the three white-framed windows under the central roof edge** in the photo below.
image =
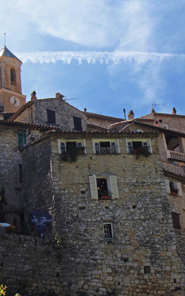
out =
<svg viewBox="0 0 185 296"><path fill-rule="evenodd" d="M136 153L136 149L145 148L152 153L150 139L126 139L127 153Z"/></svg>

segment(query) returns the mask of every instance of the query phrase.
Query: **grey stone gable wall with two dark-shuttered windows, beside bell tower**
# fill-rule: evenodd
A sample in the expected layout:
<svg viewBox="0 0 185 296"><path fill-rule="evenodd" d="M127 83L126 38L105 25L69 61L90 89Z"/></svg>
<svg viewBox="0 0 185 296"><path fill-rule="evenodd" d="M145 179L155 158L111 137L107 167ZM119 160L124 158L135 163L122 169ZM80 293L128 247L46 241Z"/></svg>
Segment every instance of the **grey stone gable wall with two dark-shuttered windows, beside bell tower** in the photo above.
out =
<svg viewBox="0 0 185 296"><path fill-rule="evenodd" d="M53 126L62 130L74 130L73 116L79 117L82 120L82 129L87 129L87 117L86 115L68 104L60 98L52 99L39 99L34 101L31 107L27 107L21 112L14 121L21 121L26 123L33 123L38 125L52 125L47 123L47 111L46 109L54 110L56 116L56 124Z"/></svg>

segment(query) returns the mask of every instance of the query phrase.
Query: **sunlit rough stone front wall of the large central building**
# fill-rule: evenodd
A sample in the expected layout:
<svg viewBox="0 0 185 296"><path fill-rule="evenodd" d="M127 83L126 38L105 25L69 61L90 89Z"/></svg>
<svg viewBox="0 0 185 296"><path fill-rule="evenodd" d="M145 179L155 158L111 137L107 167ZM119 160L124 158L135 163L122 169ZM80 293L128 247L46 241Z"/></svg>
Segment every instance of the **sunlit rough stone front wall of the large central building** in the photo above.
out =
<svg viewBox="0 0 185 296"><path fill-rule="evenodd" d="M94 136L102 138L102 134L94 133ZM105 137L108 140L113 136L115 134ZM59 134L52 137L55 231L73 245L62 259L67 263L62 271L63 287L66 287L62 295L69 295L69 292L75 295L81 291L100 296L109 293L152 296L185 288L184 265L176 252L157 140L150 135L155 153L136 160L135 155L126 153L125 137L133 138L133 134L116 136L119 137L120 154L94 155L91 152L78 155L75 163L61 160L57 143ZM71 135L66 134L67 137ZM73 137L77 138L77 134ZM92 146L92 138L88 134L83 137L86 146ZM44 142L43 146L46 144ZM28 155L26 149L24 161ZM42 144L36 144L33 149L35 156L43 154ZM39 158L35 161L37 175L43 157L41 161ZM106 178L116 175L119 198L92 199L89 175ZM28 175L24 176L27 184ZM43 185L45 192L51 191L48 186L45 184L44 188ZM35 206L45 202L44 196L39 199L40 194L31 191L29 186L24 189L25 194L32 196ZM112 239L104 238L103 223L112 223Z"/></svg>

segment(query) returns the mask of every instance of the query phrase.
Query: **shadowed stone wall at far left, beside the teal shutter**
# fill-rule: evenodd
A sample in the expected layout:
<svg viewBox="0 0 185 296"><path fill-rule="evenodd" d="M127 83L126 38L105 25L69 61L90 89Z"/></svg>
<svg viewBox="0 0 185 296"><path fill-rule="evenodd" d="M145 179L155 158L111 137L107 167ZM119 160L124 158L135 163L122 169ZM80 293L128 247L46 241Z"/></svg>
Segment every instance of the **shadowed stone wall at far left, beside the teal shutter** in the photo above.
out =
<svg viewBox="0 0 185 296"><path fill-rule="evenodd" d="M2 220L6 212L23 212L22 183L19 178L19 164L22 160L17 144L17 130L21 128L3 125L0 127L0 194L2 197L0 217Z"/></svg>

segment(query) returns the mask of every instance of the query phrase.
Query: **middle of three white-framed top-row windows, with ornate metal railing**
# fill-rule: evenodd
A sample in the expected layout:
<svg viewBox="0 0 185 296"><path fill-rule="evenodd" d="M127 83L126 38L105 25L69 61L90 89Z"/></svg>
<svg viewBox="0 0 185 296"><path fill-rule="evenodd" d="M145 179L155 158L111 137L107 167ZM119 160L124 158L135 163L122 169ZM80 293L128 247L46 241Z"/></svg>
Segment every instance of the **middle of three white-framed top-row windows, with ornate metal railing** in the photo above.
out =
<svg viewBox="0 0 185 296"><path fill-rule="evenodd" d="M93 139L93 150L95 154L120 153L118 139Z"/></svg>

